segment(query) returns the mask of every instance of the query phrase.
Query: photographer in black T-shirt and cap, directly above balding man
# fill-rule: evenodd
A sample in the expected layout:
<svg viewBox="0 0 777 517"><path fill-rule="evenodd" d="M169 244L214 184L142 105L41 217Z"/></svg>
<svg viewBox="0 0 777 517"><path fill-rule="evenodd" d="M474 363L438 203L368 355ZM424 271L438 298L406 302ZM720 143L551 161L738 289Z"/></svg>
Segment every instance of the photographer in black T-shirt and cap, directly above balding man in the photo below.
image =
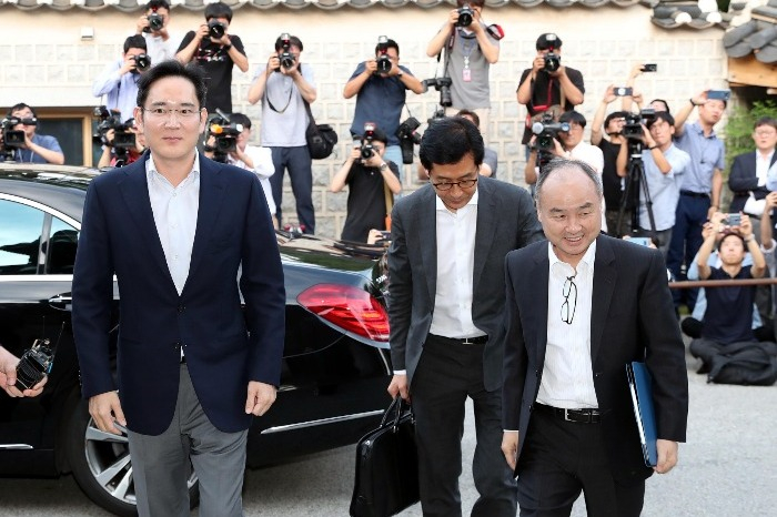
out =
<svg viewBox="0 0 777 517"><path fill-rule="evenodd" d="M583 103L585 87L583 74L561 63L562 40L554 33L537 38L537 54L532 68L521 74L516 95L519 104L527 110L526 129L521 143L532 139L532 116L546 111L552 105L561 105L563 111L574 110Z"/></svg>

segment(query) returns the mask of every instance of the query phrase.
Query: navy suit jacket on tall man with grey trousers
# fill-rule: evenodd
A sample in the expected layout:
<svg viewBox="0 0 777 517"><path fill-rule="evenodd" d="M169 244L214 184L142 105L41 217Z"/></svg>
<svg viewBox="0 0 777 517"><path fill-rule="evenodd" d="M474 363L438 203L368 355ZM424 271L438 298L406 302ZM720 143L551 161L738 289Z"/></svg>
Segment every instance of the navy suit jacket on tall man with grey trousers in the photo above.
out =
<svg viewBox="0 0 777 517"><path fill-rule="evenodd" d="M211 423L245 429L248 383L279 385L285 328L283 268L262 187L250 171L200 155L194 244L179 295L154 224L147 160L99 175L87 192L73 275L83 396L118 388L128 427L159 435L172 420L183 347ZM109 356L114 274L118 386Z"/></svg>

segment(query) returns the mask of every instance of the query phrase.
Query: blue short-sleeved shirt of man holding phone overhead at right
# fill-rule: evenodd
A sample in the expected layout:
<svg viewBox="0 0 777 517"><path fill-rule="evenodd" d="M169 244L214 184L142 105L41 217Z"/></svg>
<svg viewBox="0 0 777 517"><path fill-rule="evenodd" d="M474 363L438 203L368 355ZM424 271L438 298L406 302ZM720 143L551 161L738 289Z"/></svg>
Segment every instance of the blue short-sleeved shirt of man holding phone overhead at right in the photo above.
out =
<svg viewBox="0 0 777 517"><path fill-rule="evenodd" d="M723 171L725 168L726 150L723 141L717 138L715 131L712 131L709 136L705 136L702 125L694 122L685 125L683 135L675 143L690 155L690 166L683 175L680 189L709 194L713 190L715 169Z"/></svg>

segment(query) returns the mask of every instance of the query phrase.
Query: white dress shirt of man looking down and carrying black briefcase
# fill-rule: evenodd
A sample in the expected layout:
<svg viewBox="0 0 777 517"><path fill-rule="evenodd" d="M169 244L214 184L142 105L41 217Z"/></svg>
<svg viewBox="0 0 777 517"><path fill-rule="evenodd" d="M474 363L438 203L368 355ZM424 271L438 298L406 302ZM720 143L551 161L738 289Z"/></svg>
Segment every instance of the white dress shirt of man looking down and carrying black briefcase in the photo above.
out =
<svg viewBox="0 0 777 517"><path fill-rule="evenodd" d="M444 337L476 337L484 332L472 321L472 276L475 267L478 191L451 212L436 197L437 288L430 333Z"/></svg>

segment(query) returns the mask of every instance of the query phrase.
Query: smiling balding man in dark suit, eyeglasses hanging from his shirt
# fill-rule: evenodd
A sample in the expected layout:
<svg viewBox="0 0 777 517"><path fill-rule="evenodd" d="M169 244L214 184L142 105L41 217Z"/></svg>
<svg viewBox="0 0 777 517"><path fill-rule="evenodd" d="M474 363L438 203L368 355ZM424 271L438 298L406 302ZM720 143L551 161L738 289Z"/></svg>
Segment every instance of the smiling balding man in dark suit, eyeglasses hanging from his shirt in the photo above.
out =
<svg viewBox="0 0 777 517"><path fill-rule="evenodd" d="M507 338L502 450L518 476L521 516L637 517L645 479L667 473L685 440L685 347L656 250L602 230L599 175L554 160L537 183L548 242L505 261ZM653 374L658 465L645 466L626 377Z"/></svg>

